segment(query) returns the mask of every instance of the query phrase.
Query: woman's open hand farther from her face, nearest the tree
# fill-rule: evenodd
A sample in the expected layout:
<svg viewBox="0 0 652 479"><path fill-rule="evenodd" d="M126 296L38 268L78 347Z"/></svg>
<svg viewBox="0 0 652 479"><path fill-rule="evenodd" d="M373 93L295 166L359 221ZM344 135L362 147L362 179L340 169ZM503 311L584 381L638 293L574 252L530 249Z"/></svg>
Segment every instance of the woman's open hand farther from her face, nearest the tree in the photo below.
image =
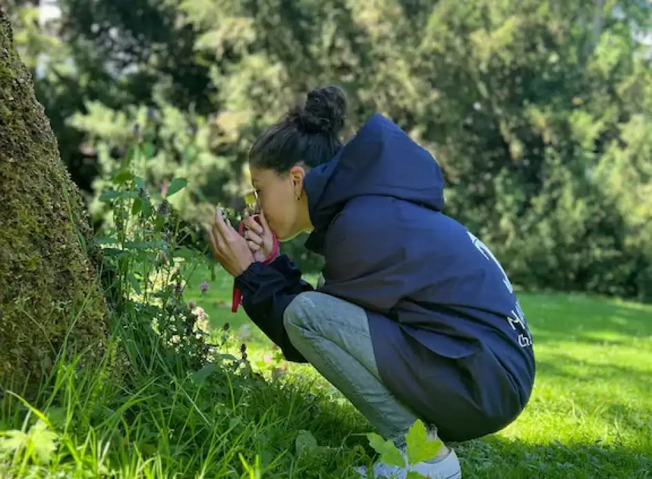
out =
<svg viewBox="0 0 652 479"><path fill-rule="evenodd" d="M239 276L254 263L246 240L226 221L220 208L215 212L213 226L208 229L208 238L213 257L232 276Z"/></svg>

